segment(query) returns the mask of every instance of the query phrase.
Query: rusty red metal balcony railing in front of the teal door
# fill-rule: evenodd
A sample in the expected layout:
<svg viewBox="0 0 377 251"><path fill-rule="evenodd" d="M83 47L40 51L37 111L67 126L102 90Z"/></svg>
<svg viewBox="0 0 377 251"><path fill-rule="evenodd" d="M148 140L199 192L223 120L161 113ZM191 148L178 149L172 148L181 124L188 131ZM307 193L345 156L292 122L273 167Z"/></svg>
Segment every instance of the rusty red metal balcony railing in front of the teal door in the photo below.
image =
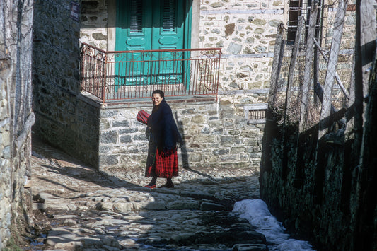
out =
<svg viewBox="0 0 377 251"><path fill-rule="evenodd" d="M217 95L221 49L105 52L81 45L81 90L109 102L166 96Z"/></svg>

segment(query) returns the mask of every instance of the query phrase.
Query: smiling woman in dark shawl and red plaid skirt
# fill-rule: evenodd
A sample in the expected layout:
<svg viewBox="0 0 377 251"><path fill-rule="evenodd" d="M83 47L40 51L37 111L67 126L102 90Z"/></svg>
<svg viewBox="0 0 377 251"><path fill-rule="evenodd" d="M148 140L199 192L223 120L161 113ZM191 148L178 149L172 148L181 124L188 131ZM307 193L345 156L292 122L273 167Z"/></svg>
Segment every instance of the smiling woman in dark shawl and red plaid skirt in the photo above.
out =
<svg viewBox="0 0 377 251"><path fill-rule="evenodd" d="M149 149L145 172L145 177L152 180L145 187L156 188L158 177L166 178L166 184L161 187L174 187L172 177L178 176L177 144L182 145L182 137L163 91L153 91L152 102L153 110L146 128Z"/></svg>

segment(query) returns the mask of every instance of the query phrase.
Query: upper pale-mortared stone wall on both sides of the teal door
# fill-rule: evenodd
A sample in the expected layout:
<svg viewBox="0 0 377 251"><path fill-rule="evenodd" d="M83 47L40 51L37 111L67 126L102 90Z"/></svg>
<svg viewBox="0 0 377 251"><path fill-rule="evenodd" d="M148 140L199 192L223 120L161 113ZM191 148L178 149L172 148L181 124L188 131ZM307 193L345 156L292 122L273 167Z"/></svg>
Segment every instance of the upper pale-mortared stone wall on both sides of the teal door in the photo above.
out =
<svg viewBox="0 0 377 251"><path fill-rule="evenodd" d="M108 23L112 1L82 1L80 41L105 50L114 50L115 36ZM197 3L199 2L199 3ZM282 1L199 1L193 16L199 27L192 46L221 47L222 90L248 90L269 87L277 25L284 20ZM196 8L193 8L194 11ZM113 13L115 15L115 13Z"/></svg>

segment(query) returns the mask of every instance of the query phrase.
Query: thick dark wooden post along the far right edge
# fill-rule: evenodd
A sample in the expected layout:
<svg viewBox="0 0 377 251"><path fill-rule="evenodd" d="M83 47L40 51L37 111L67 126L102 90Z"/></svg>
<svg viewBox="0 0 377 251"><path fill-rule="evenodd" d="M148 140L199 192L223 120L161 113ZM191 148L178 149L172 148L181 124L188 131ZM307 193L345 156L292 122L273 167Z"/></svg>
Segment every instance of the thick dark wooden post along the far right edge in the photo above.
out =
<svg viewBox="0 0 377 251"><path fill-rule="evenodd" d="M372 250L371 243L376 242L376 223L373 226L373 214L376 209L376 81L371 81L369 88L370 67L376 55L376 13L373 0L356 1L356 45L355 45L355 81L354 103L349 104L354 117L347 127L347 138L352 142L349 169L354 170L354 197L351 207L352 240L350 250ZM368 91L371 93L368 94ZM364 100L369 95L369 109ZM365 112L366 111L366 112ZM349 117L348 117L349 119ZM370 120L367 120L370 119ZM364 135L363 135L364 134ZM373 230L374 228L374 230Z"/></svg>

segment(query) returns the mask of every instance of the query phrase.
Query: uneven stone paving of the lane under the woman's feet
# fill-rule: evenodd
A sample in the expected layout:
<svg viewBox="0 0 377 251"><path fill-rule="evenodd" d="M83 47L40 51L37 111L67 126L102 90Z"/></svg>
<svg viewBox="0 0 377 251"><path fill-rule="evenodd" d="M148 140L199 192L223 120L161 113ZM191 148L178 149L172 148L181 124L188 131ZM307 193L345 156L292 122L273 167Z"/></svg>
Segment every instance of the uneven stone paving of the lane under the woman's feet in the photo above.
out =
<svg viewBox="0 0 377 251"><path fill-rule="evenodd" d="M144 170L107 175L38 141L32 165L32 250L267 250L231 212L259 197L248 170L181 169L174 188L149 189Z"/></svg>

